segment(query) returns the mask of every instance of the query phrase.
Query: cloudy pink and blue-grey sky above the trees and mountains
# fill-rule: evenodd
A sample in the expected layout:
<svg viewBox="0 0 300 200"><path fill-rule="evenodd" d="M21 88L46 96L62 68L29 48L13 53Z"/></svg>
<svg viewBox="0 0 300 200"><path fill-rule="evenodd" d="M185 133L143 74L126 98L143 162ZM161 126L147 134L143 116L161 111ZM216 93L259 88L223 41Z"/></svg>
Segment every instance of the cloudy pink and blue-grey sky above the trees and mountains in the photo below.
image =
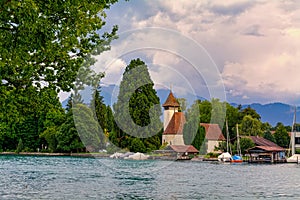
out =
<svg viewBox="0 0 300 200"><path fill-rule="evenodd" d="M235 103L300 104L300 2L130 0L107 12L120 39L100 58L105 84L140 57L156 88ZM103 59L105 58L105 59Z"/></svg>

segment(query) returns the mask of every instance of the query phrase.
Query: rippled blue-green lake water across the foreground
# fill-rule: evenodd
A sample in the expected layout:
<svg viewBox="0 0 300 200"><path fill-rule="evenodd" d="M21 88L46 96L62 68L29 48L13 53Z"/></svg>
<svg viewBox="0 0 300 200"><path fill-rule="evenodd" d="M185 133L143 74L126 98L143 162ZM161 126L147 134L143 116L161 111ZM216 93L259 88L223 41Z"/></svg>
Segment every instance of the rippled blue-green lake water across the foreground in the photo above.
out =
<svg viewBox="0 0 300 200"><path fill-rule="evenodd" d="M0 156L0 199L299 199L300 165Z"/></svg>

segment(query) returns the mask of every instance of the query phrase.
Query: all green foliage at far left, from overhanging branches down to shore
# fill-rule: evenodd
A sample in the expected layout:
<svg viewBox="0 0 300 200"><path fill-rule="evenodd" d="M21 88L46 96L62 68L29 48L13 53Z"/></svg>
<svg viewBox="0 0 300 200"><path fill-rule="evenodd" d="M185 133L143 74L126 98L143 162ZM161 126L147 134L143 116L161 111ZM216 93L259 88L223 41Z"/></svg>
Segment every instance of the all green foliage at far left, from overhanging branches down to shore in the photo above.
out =
<svg viewBox="0 0 300 200"><path fill-rule="evenodd" d="M0 149L15 150L21 138L24 149L56 150L62 122L48 113L63 112L59 91L70 91L76 83L76 93L103 76L90 66L92 55L109 50L116 38L117 27L99 35L104 10L115 2L0 3Z"/></svg>

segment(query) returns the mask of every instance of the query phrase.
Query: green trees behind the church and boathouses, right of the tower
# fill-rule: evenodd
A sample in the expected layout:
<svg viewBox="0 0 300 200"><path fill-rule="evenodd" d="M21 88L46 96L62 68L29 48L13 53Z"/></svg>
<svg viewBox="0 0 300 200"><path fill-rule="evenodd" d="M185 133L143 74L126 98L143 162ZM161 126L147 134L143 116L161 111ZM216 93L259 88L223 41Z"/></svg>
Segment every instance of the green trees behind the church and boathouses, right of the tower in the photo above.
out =
<svg viewBox="0 0 300 200"><path fill-rule="evenodd" d="M250 106L246 108L242 108L241 105L234 107L227 102L221 102L214 98L211 101L197 100L187 110L186 118L187 123L184 128L185 141L187 144L194 145L200 152L204 152L205 149L205 130L204 127L199 125L200 122L218 124L222 128L225 138L228 131L230 148L233 153L237 153L237 131L239 131L239 136L241 137L240 146L242 153L245 153L246 149L255 146L252 140L245 136L264 137L284 148L288 148L290 144L290 126L284 126L284 124L279 122L272 127L268 122L263 123L261 116ZM297 127L299 125L296 124L294 128ZM221 142L216 150L226 151L226 142Z"/></svg>

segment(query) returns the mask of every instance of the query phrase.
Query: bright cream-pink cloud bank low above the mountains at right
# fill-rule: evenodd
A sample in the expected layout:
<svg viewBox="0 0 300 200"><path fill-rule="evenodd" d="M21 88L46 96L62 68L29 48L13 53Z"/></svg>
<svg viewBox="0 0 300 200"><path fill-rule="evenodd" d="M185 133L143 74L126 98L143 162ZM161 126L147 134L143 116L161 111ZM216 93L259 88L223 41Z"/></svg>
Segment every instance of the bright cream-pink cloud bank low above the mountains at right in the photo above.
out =
<svg viewBox="0 0 300 200"><path fill-rule="evenodd" d="M292 102L300 98L300 51L282 53L248 63L226 63L224 83L240 91L239 95L255 95L268 101Z"/></svg>

